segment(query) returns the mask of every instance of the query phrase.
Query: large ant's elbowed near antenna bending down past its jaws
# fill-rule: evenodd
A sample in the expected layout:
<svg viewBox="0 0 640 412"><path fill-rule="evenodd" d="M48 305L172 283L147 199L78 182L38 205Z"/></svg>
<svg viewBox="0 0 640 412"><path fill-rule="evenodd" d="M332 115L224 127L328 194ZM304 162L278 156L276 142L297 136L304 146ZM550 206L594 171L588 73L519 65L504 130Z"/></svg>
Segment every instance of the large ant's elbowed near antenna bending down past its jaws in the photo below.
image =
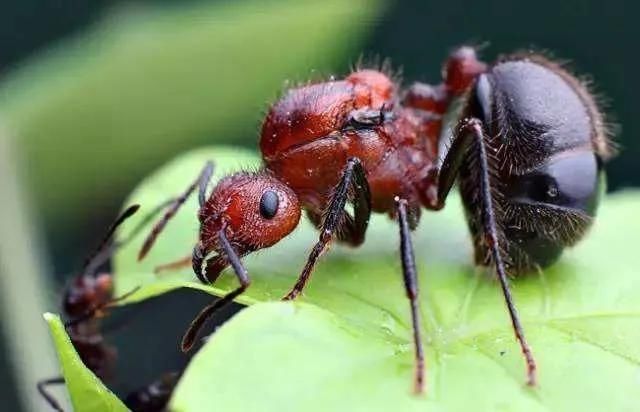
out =
<svg viewBox="0 0 640 412"><path fill-rule="evenodd" d="M182 338L181 348L183 352L188 352L189 350L191 350L198 336L198 333L200 332L206 321L209 320L209 318L220 308L227 305L228 303L231 303L236 297L241 295L251 284L251 279L249 279L249 272L247 272L247 269L240 261L240 256L236 253L236 251L233 249L233 246L231 246L231 243L227 239L225 229L226 227L223 226L222 229L218 231L218 239L220 241L222 251L226 255L229 264L238 277L238 281L240 281L240 286L237 289L227 293L220 299L216 300L215 302L211 303L210 305L206 306L204 309L202 309L202 311L200 311L200 313L198 313L195 319L193 319L193 321L191 322L191 325L189 325L189 328ZM216 258L217 256L212 259Z"/></svg>

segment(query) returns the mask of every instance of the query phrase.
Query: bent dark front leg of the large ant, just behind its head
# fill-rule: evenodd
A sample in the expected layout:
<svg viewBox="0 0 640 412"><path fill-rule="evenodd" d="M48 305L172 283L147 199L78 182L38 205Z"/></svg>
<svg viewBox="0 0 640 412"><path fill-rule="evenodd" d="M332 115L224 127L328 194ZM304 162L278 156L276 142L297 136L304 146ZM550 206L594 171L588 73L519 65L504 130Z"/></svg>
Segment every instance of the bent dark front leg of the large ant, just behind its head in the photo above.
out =
<svg viewBox="0 0 640 412"><path fill-rule="evenodd" d="M295 299L304 289L318 258L329 245L334 232L344 221L344 207L349 198L354 199L353 221L356 228L354 241L361 243L364 241L364 233L369 225L371 194L369 193L369 183L367 182L364 167L360 159L357 158L351 158L347 161L342 177L329 202L329 208L320 228L320 238L311 250L298 281L283 300Z"/></svg>

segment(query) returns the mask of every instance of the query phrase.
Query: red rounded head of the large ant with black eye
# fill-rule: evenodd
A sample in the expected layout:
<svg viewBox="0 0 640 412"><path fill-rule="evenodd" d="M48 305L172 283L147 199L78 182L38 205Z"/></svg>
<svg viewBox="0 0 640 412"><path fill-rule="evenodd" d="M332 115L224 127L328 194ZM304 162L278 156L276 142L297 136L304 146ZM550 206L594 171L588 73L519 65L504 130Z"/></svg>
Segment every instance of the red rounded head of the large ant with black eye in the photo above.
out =
<svg viewBox="0 0 640 412"><path fill-rule="evenodd" d="M239 255L272 246L296 228L300 213L296 194L268 172L227 176L200 209L201 251L220 252L222 229Z"/></svg>

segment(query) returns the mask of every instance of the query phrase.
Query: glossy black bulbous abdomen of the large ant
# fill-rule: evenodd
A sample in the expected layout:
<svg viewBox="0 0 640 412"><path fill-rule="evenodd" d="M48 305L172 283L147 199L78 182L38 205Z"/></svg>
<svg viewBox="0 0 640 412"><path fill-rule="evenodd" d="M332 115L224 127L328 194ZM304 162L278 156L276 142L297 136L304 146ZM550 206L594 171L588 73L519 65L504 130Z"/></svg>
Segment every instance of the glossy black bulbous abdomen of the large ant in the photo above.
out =
<svg viewBox="0 0 640 412"><path fill-rule="evenodd" d="M559 65L517 55L479 76L468 110L499 153L514 265L553 263L590 227L602 189L610 148L593 97Z"/></svg>

